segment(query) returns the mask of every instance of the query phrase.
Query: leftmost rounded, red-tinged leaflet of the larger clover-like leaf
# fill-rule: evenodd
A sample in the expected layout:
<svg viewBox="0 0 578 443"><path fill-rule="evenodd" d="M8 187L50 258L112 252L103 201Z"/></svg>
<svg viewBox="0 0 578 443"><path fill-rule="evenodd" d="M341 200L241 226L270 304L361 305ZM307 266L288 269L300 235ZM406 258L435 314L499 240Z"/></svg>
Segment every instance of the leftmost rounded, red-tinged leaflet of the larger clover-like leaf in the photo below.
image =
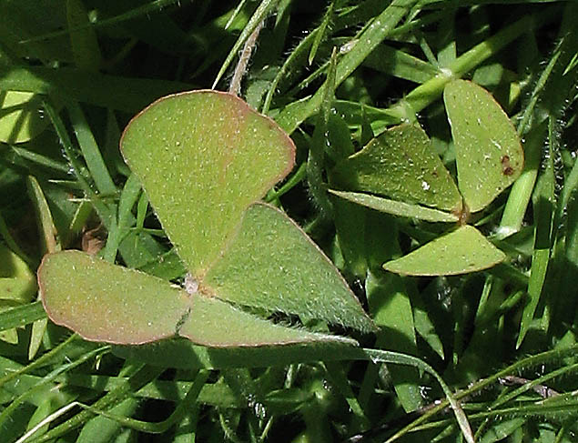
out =
<svg viewBox="0 0 578 443"><path fill-rule="evenodd" d="M80 251L47 255L38 281L48 317L88 340L139 344L171 337L188 305L182 289Z"/></svg>

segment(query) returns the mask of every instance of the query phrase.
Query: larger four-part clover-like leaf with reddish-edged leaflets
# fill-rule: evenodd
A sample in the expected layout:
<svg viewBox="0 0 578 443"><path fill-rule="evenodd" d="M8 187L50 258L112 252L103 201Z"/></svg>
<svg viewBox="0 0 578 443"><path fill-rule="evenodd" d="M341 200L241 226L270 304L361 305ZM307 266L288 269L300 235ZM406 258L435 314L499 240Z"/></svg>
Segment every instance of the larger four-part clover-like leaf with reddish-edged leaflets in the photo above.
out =
<svg viewBox="0 0 578 443"><path fill-rule="evenodd" d="M346 340L275 325L281 312L374 328L339 272L288 216L258 200L286 176L294 146L237 96L161 98L127 126L121 148L188 268L188 291L78 251L38 271L49 317L82 337L140 344L188 337L217 347Z"/></svg>

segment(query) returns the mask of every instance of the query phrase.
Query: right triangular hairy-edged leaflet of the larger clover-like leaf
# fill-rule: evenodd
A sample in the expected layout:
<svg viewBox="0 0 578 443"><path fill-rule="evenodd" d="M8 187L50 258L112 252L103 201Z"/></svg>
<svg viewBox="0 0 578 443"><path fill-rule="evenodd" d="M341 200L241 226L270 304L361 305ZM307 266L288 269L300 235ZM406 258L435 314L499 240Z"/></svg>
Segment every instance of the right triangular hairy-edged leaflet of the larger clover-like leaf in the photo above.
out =
<svg viewBox="0 0 578 443"><path fill-rule="evenodd" d="M250 257L250 259L247 259ZM278 209L249 206L238 236L204 279L215 297L369 331L337 269Z"/></svg>

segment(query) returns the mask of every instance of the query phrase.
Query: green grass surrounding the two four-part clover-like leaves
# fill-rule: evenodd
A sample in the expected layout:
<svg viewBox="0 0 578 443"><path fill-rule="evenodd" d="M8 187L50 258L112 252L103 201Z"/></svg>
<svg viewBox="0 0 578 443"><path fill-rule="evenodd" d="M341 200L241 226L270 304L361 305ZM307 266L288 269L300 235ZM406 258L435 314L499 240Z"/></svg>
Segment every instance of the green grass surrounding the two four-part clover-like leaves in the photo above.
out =
<svg viewBox="0 0 578 443"><path fill-rule="evenodd" d="M476 441L576 441L576 23L572 1L3 2L0 439L39 425L19 441L456 441L432 367ZM139 353L51 324L35 301L46 252L90 244L184 277L118 141L160 96L228 90L236 66L239 96L298 147L266 200L360 297L381 329L355 338L373 350L198 348L169 365L170 348ZM448 75L491 91L522 138L522 176L473 222L508 258L456 277L394 276L384 262L447 227L336 203L329 174L406 121L455 172ZM35 93L30 120L9 118L14 91Z"/></svg>

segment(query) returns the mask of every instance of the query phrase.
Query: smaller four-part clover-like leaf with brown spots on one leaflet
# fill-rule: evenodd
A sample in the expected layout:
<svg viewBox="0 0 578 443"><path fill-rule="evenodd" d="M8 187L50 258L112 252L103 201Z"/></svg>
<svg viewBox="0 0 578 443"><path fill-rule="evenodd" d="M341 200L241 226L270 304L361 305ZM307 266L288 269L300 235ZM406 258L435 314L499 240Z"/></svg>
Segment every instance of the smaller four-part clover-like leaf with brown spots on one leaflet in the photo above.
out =
<svg viewBox="0 0 578 443"><path fill-rule="evenodd" d="M456 275L492 267L505 258L470 215L490 205L523 168L520 139L508 116L481 86L454 80L443 93L456 153L458 186L419 126L396 126L333 170L341 189L330 192L396 216L454 222L449 234L383 265L403 275ZM361 191L361 192L359 192ZM389 197L389 198L385 198Z"/></svg>

